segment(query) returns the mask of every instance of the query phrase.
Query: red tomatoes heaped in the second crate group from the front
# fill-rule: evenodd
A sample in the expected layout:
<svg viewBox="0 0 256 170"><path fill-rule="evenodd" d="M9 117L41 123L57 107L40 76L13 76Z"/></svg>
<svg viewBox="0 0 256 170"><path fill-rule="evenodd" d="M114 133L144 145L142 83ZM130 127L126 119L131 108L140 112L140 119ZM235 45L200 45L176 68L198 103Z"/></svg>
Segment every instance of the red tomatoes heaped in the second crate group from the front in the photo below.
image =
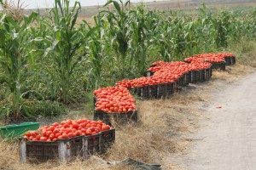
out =
<svg viewBox="0 0 256 170"><path fill-rule="evenodd" d="M96 111L106 113L136 111L135 99L124 87L99 88L94 91Z"/></svg>

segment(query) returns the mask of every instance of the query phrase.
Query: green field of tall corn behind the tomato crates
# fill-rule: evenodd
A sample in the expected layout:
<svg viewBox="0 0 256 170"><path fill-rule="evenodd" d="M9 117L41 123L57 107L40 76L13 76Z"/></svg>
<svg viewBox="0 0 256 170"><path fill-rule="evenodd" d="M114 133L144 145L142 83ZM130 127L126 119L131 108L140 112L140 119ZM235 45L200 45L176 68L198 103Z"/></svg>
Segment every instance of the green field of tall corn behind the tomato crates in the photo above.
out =
<svg viewBox="0 0 256 170"><path fill-rule="evenodd" d="M77 23L79 2L70 8L55 0L46 14L28 16L1 4L0 115L16 120L37 116L35 102L88 102L94 89L141 77L155 60L222 51L256 36L256 9L209 12L202 4L185 14L110 0L89 25Z"/></svg>

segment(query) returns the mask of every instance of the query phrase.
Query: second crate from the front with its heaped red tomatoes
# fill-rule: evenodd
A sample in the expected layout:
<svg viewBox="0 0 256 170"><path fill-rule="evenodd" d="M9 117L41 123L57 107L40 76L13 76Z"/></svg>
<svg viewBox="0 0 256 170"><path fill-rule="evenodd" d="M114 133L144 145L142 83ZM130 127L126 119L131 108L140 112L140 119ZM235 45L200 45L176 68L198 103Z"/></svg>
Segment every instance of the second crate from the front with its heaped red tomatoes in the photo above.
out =
<svg viewBox="0 0 256 170"><path fill-rule="evenodd" d="M96 99L94 120L102 120L108 125L112 122L137 122L135 99L127 88L99 88L94 95Z"/></svg>

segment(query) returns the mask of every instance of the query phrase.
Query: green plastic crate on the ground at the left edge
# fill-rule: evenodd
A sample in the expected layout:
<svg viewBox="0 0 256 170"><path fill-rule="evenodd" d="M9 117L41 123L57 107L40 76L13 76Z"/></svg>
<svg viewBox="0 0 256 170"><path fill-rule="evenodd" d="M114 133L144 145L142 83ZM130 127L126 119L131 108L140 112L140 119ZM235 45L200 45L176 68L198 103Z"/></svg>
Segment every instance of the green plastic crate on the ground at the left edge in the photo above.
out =
<svg viewBox="0 0 256 170"><path fill-rule="evenodd" d="M3 139L12 139L29 130L37 130L39 122L23 122L18 125L6 125L0 127L0 134Z"/></svg>

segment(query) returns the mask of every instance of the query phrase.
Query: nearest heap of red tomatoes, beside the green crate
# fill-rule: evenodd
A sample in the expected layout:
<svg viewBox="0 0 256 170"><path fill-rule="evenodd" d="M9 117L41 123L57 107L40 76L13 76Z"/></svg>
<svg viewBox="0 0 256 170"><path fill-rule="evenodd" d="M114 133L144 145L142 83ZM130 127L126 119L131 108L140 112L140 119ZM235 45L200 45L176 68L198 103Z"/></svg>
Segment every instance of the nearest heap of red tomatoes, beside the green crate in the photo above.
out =
<svg viewBox="0 0 256 170"><path fill-rule="evenodd" d="M67 120L54 122L51 126L40 127L38 131L27 131L24 138L32 141L56 141L58 139L69 139L76 136L89 136L110 129L102 121L90 121L88 119Z"/></svg>

